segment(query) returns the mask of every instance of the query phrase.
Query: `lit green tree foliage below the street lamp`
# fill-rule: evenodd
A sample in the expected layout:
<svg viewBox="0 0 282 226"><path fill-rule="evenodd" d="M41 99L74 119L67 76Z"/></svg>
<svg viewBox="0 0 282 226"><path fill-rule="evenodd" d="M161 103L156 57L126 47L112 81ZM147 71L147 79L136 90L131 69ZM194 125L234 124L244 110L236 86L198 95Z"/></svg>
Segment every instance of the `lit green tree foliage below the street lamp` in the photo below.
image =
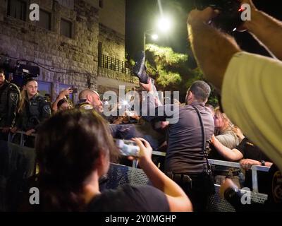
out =
<svg viewBox="0 0 282 226"><path fill-rule="evenodd" d="M191 70L188 67L188 55L173 52L170 47L147 44L146 58L147 71L156 81L157 90L179 91L180 102L185 102L186 92L194 81L204 80L200 69ZM218 105L213 88L209 104Z"/></svg>

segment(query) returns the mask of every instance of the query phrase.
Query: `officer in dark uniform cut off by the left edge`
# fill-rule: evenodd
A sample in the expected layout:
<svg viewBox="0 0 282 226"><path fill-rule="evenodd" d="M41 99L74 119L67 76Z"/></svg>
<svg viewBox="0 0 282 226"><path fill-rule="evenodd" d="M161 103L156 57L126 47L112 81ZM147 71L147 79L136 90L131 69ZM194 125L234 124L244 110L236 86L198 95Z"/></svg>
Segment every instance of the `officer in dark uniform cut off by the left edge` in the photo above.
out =
<svg viewBox="0 0 282 226"><path fill-rule="evenodd" d="M6 140L15 123L19 100L18 86L6 81L4 70L0 69L0 140Z"/></svg>

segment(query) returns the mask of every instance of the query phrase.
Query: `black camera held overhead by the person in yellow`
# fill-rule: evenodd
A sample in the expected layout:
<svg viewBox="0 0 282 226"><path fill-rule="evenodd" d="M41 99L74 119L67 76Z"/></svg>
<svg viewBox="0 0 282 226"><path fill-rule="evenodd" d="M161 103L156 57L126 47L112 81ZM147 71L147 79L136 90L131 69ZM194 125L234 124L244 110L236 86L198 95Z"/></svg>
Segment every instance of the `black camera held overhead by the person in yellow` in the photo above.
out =
<svg viewBox="0 0 282 226"><path fill-rule="evenodd" d="M212 19L212 23L225 32L236 30L242 23L241 3L239 0L195 0L195 8L203 10L212 7L220 11L219 16Z"/></svg>

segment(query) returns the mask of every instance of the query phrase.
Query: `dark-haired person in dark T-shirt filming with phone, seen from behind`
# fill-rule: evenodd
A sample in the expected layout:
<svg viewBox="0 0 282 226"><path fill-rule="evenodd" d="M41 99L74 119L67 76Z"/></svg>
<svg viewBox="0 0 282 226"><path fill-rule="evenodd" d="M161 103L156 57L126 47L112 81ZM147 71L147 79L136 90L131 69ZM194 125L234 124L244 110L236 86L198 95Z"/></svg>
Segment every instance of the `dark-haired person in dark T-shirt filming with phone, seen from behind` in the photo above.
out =
<svg viewBox="0 0 282 226"><path fill-rule="evenodd" d="M192 211L185 192L152 162L152 148L142 138L139 165L153 186L123 186L101 193L99 178L118 154L109 127L100 114L71 109L54 114L37 134L39 163L37 211L151 212ZM23 203L28 203L27 200Z"/></svg>

